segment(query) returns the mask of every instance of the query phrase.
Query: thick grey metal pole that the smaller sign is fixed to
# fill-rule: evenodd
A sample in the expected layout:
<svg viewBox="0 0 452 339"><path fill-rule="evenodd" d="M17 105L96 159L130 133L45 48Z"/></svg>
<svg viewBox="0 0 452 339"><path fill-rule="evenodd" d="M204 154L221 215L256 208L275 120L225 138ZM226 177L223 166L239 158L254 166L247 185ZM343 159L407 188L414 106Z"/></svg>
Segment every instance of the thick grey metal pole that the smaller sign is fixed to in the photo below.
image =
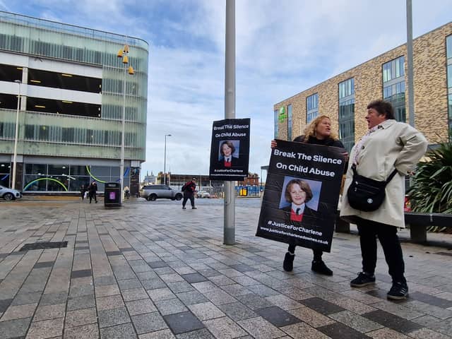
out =
<svg viewBox="0 0 452 339"><path fill-rule="evenodd" d="M235 0L226 0L225 119L235 118ZM225 182L223 242L235 243L234 182Z"/></svg>

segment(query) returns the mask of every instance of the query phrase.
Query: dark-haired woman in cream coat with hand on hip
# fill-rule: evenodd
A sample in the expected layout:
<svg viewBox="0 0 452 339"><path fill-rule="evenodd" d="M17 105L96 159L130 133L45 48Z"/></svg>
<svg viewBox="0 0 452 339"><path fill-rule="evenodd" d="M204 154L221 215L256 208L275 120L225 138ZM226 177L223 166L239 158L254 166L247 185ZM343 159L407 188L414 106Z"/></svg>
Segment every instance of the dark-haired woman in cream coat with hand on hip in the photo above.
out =
<svg viewBox="0 0 452 339"><path fill-rule="evenodd" d="M352 148L345 180L340 216L357 225L362 254L362 273L350 282L352 287L375 283L376 237L388 263L393 285L389 299L405 299L408 285L405 280L405 263L397 236L397 227L405 227L403 203L405 175L411 174L427 150L426 138L412 126L394 118L391 103L375 100L367 106L369 131ZM370 179L385 181L396 168L398 173L386 186L386 198L373 212L363 212L348 203L347 190L353 178L352 165L357 173Z"/></svg>

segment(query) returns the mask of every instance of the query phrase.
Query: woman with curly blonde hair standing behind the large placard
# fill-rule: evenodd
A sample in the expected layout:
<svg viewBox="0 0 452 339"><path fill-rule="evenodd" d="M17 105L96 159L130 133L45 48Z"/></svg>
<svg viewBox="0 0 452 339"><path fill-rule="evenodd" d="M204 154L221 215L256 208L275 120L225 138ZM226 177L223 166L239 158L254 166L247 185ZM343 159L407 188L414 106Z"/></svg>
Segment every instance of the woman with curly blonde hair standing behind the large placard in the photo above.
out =
<svg viewBox="0 0 452 339"><path fill-rule="evenodd" d="M321 115L312 120L310 124L304 129L304 135L297 136L294 141L298 143L309 143L311 145L324 145L334 146L338 148L344 148L337 136L331 131L331 119L327 115ZM271 148L276 147L276 141L271 141ZM348 158L348 153L343 152L345 158ZM287 272L293 270L294 258L295 258L295 244L289 244L287 253L285 254L283 261L283 268ZM311 265L311 270L323 275L333 275L333 271L326 266L322 260L323 251L319 249L313 249L314 258Z"/></svg>

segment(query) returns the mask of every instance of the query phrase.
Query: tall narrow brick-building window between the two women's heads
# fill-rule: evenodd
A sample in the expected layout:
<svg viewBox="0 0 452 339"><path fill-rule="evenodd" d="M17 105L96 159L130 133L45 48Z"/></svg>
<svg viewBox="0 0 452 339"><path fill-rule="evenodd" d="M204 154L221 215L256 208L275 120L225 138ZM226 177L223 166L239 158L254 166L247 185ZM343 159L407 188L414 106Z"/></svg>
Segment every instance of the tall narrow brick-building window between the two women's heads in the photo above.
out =
<svg viewBox="0 0 452 339"><path fill-rule="evenodd" d="M339 138L348 152L355 144L355 79L338 84Z"/></svg>

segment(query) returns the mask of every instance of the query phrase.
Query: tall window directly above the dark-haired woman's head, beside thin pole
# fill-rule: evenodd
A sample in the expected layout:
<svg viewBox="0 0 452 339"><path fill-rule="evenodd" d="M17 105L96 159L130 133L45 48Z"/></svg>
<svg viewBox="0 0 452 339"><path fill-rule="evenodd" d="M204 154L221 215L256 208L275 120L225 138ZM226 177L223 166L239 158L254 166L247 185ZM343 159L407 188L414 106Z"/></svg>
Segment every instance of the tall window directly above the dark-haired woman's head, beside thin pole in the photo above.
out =
<svg viewBox="0 0 452 339"><path fill-rule="evenodd" d="M397 121L406 121L405 57L383 64L383 99L391 102Z"/></svg>

